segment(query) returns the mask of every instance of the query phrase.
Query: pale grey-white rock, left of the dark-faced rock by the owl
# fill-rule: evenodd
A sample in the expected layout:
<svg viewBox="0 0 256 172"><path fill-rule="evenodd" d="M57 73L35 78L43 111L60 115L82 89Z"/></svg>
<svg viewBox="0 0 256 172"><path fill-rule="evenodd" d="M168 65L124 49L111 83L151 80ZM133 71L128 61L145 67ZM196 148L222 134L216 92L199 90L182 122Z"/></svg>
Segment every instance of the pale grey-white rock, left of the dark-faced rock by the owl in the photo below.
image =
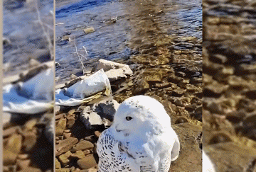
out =
<svg viewBox="0 0 256 172"><path fill-rule="evenodd" d="M82 110L80 113L80 120L84 123L87 130L92 129L92 125L102 125L102 119L100 115L95 112Z"/></svg>

